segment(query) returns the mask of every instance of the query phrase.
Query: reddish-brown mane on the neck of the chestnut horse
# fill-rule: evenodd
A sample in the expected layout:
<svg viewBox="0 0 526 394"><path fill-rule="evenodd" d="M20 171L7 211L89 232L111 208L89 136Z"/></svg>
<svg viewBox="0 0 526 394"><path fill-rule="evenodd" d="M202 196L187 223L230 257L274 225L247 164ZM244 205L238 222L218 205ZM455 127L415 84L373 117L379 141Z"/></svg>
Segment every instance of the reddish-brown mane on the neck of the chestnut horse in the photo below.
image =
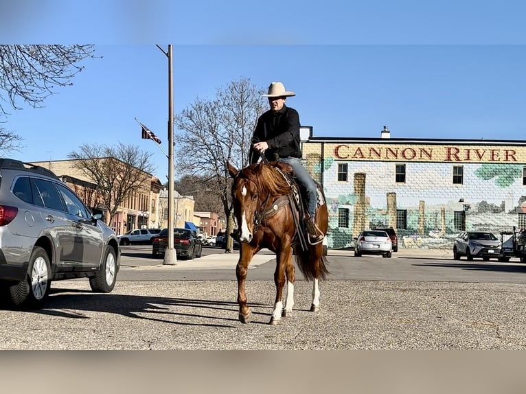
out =
<svg viewBox="0 0 526 394"><path fill-rule="evenodd" d="M260 192L275 196L290 194L290 184L286 181L284 174L272 163L257 163L245 167L240 176L250 179Z"/></svg>

